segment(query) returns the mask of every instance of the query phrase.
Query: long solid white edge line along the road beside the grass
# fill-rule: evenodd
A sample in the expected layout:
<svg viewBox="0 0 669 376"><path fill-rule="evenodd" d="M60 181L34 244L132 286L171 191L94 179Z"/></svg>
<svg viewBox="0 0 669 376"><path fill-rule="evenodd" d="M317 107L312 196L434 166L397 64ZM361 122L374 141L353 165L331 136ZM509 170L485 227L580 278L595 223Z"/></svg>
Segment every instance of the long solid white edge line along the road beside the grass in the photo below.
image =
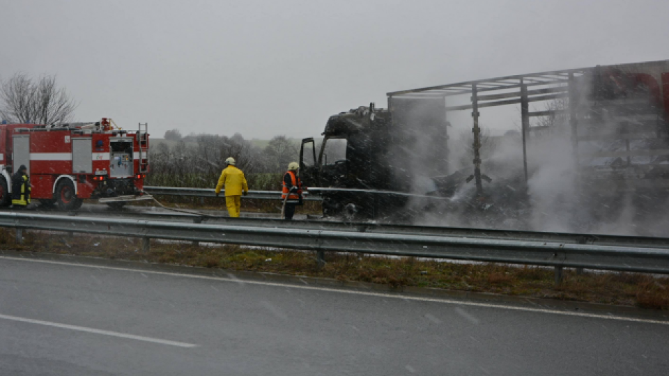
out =
<svg viewBox="0 0 669 376"><path fill-rule="evenodd" d="M118 272L133 272L133 273L146 273L146 274L155 274L160 276L179 276L183 278L192 278L192 279L207 279L213 281L226 281L226 282L235 282L239 283L241 280L236 278L224 278L217 276L199 276L196 274L181 274L181 273L171 273L171 272L156 272L155 270L146 270L146 269L131 269L126 267L109 267L102 265L87 265L87 264L77 264L77 263L64 263L62 261L50 261L50 260L38 260L31 258L18 258L10 256L0 256L0 259L6 260L16 260L16 261L28 261L31 263L45 263L45 264L54 264L54 265L67 265L75 267L90 267L93 269L107 269L107 270L116 270ZM546 308L532 308L532 307L521 307L521 306L506 306L504 304L491 304L491 303L479 303L476 301L461 301L454 299L439 299L439 298L430 298L430 297L416 297L412 295L402 295L402 294L384 294L383 292L368 292L368 291L357 291L357 290L344 290L339 288L323 288L317 286L302 286L302 285L293 285L291 283L278 283L278 282L264 282L264 281L252 281L244 280L244 283L249 285L265 285L265 286L275 286L281 288L296 288L300 290L315 290L315 291L327 291L327 292L337 292L339 294L349 294L349 295L364 295L369 297L385 297L392 299L406 299L413 301L431 301L435 303L445 303L445 304L455 304L460 306L475 306L475 307L484 307L484 308L498 308L506 309L510 311L525 311L533 313L551 313L554 315L566 315L566 316L578 316L581 318L599 318L604 320L617 320L617 321L630 321L630 322L643 322L645 324L661 324L669 325L668 321L663 320L650 320L643 318L628 318L625 316L618 315L603 315L597 313L585 313L585 312L571 312L571 311L559 311L555 309L546 309Z"/></svg>

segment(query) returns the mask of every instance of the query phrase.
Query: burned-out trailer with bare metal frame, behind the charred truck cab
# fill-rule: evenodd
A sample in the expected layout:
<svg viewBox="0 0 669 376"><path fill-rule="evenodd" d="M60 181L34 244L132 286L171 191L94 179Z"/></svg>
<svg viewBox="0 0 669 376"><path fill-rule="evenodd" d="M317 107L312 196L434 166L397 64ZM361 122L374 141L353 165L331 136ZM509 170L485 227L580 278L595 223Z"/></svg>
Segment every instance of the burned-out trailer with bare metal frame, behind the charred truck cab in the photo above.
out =
<svg viewBox="0 0 669 376"><path fill-rule="evenodd" d="M574 180L565 194L574 197L564 200L571 201L567 206L580 212L581 219L615 214L622 198L639 201L635 205L644 212L644 206L669 197L669 61L539 72L388 95L393 100L441 95L449 104L449 118L454 111L470 112L472 166L433 179L440 196L452 196L472 184L475 189L470 199L502 210L524 208L527 214L541 193L530 187L531 180L550 164L544 157L548 155L546 145L566 139L567 147L560 153L568 157L570 166L561 173ZM457 97L467 97L468 103L452 104ZM531 110L531 104L544 104L544 109ZM509 166L494 156L481 157L481 110L502 106L520 107L520 157L514 162L515 175L500 174Z"/></svg>

